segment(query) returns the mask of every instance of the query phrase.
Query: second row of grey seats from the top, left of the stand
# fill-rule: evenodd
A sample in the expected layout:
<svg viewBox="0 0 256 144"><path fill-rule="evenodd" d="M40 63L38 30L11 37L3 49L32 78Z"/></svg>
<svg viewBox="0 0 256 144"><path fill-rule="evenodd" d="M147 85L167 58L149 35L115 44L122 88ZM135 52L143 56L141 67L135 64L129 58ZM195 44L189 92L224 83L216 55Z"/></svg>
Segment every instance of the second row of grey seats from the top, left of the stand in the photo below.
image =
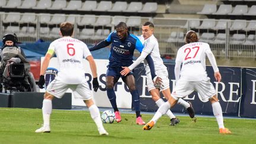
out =
<svg viewBox="0 0 256 144"><path fill-rule="evenodd" d="M34 14L34 13L24 13L19 12L9 12L5 14L2 18L3 23L31 23L36 24L37 18L39 18L40 24L60 24L63 21L69 21L73 24L82 25L104 25L109 26L117 25L120 21L126 23L129 27L139 26L141 23L141 17L124 17L115 16L110 17L106 15L65 15L65 14Z"/></svg>

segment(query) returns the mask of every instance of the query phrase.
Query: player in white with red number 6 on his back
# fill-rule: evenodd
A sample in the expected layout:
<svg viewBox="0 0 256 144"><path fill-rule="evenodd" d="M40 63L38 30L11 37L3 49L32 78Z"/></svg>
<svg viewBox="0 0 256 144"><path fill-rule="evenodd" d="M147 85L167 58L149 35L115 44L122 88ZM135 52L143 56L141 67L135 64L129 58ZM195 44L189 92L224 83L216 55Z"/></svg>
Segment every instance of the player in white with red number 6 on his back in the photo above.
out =
<svg viewBox="0 0 256 144"><path fill-rule="evenodd" d="M65 22L60 24L60 35L62 38L53 41L44 57L40 79L38 82L39 88L43 88L44 74L49 65L50 59L56 54L60 69L56 78L50 82L43 100L43 126L36 130L36 133L50 132L50 114L52 113L52 99L54 97L62 98L65 92L70 88L75 98L84 100L87 105L92 119L98 127L100 135L108 135L103 127L100 117L100 111L92 100L92 92L85 80L85 71L82 60L85 57L90 65L93 76L93 88L97 91L99 85L97 80L97 69L94 58L85 43L80 40L73 39L73 24Z"/></svg>

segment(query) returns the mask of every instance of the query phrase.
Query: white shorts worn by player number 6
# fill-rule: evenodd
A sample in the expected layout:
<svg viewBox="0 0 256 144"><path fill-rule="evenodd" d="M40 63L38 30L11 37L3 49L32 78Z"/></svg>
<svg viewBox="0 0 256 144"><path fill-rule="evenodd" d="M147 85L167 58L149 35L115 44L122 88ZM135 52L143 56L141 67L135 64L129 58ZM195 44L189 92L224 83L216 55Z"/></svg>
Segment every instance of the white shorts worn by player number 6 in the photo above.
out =
<svg viewBox="0 0 256 144"><path fill-rule="evenodd" d="M50 82L46 91L49 94L54 95L56 98L62 98L69 88L72 90L74 98L81 100L89 100L92 98L91 89L89 89L87 81L83 82L82 84L70 85L54 79L52 82Z"/></svg>

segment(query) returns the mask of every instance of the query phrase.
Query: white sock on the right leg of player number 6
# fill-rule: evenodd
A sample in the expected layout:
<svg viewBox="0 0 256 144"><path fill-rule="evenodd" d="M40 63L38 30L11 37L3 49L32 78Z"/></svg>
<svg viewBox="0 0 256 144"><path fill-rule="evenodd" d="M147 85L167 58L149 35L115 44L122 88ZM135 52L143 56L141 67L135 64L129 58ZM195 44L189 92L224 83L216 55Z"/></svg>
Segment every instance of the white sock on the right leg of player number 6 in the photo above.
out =
<svg viewBox="0 0 256 144"><path fill-rule="evenodd" d="M92 120L94 120L96 126L98 127L98 130L104 129L103 123L100 117L100 110L98 109L98 107L95 104L91 105L91 107L89 107L89 112L91 114Z"/></svg>

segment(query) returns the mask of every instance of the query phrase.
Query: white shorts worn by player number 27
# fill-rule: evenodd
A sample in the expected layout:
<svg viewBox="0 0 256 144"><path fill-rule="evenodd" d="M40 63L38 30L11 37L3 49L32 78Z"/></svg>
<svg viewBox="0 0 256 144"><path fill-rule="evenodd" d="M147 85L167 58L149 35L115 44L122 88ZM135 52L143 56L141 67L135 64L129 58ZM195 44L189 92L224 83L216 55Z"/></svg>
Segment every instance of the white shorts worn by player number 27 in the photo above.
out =
<svg viewBox="0 0 256 144"><path fill-rule="evenodd" d="M201 100L204 102L208 101L209 98L216 94L215 88L210 82L210 78L207 77L199 82L178 81L172 91L172 97L178 100L178 98L187 97L187 95L191 94L193 91L199 92L199 97L201 97Z"/></svg>

